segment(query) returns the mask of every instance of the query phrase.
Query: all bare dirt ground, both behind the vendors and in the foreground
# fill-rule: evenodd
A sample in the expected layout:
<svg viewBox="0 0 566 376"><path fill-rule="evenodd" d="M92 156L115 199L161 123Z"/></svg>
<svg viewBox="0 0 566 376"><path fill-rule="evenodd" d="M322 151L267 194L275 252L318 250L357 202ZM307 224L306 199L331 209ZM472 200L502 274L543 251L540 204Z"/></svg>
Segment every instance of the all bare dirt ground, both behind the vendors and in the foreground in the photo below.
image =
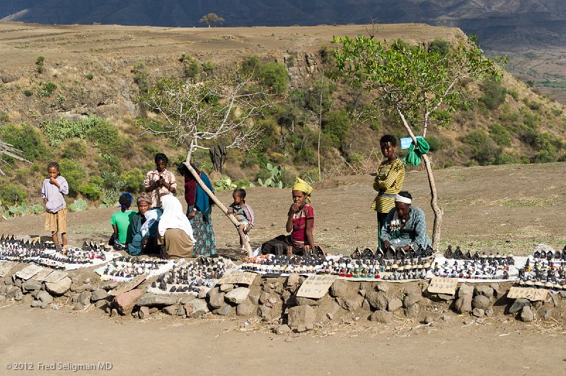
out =
<svg viewBox="0 0 566 376"><path fill-rule="evenodd" d="M565 245L560 218L566 211L566 163L450 168L437 171L435 177L444 208L443 247L451 243L463 249L526 254L538 242ZM330 252L375 244L375 215L369 209L374 198L372 180L369 175L345 176L316 184L315 239ZM424 208L431 223L424 172L409 172L405 189L412 192L415 205ZM229 192L219 196L229 202ZM291 204L289 189L253 188L248 197L258 216L251 233L253 244L282 233ZM70 213L71 242L80 245L84 239L108 237L113 210ZM0 233L45 234L42 222L42 216L1 221ZM221 253L236 257L236 232L217 208L214 230ZM442 320L441 315L448 319ZM434 316L435 322L429 325L400 317L392 324L374 324L366 317L352 316L307 334L277 336L270 327L239 318L180 319L163 314L145 320L108 318L94 308L33 310L2 302L0 360L12 366L31 363L35 369L38 362L56 366L108 362L112 372L120 375L217 375L226 370L235 375L373 375L382 370L555 375L565 368L562 317L525 324L504 315L484 318L481 323L453 312Z"/></svg>

